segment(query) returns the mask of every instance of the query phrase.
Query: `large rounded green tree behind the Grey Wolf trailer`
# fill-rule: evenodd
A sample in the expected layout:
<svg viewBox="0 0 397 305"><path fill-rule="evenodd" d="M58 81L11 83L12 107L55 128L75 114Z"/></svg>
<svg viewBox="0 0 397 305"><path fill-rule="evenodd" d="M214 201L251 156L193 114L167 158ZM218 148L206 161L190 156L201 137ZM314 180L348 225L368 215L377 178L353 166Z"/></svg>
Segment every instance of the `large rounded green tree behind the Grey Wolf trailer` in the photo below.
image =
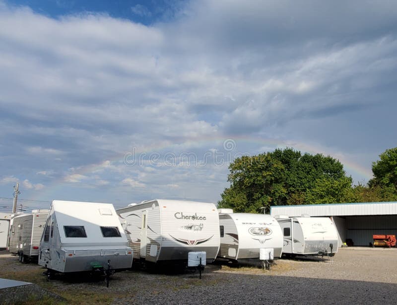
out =
<svg viewBox="0 0 397 305"><path fill-rule="evenodd" d="M292 148L243 156L229 166L231 183L219 207L260 212L270 205L346 202L351 178L330 156L301 154Z"/></svg>

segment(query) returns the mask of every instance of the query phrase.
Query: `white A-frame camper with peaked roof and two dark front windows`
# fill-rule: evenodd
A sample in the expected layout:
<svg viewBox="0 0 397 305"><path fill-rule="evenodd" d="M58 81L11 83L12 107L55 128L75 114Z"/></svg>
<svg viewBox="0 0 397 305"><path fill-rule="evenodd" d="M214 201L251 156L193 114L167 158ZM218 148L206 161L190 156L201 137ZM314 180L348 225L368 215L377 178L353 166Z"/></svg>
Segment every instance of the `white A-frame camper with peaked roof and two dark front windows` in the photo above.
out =
<svg viewBox="0 0 397 305"><path fill-rule="evenodd" d="M54 200L41 237L39 265L50 272L132 266L132 250L112 204Z"/></svg>

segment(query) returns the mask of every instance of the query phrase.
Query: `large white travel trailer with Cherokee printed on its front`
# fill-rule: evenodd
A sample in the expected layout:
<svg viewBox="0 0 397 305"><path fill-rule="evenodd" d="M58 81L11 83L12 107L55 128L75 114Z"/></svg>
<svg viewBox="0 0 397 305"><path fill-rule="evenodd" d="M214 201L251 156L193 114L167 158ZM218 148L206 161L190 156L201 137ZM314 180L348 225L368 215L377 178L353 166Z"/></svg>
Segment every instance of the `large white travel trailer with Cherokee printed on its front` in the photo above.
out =
<svg viewBox="0 0 397 305"><path fill-rule="evenodd" d="M219 250L219 219L212 203L151 200L117 210L134 259L187 262L191 251L205 251L212 262Z"/></svg>

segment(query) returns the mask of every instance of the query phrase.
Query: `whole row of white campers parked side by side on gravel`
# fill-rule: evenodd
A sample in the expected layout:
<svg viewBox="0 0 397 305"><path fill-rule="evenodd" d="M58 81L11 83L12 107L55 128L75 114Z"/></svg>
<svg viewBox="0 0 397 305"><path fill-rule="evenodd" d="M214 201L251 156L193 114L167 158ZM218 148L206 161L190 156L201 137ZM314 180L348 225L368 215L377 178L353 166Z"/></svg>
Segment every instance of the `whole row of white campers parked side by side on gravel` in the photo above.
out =
<svg viewBox="0 0 397 305"><path fill-rule="evenodd" d="M233 213L212 203L150 200L112 204L54 200L50 210L11 219L9 250L55 272L123 270L132 261L170 265L215 259L266 261L337 251L329 218ZM2 224L2 223L0 223ZM190 257L190 259L189 259Z"/></svg>

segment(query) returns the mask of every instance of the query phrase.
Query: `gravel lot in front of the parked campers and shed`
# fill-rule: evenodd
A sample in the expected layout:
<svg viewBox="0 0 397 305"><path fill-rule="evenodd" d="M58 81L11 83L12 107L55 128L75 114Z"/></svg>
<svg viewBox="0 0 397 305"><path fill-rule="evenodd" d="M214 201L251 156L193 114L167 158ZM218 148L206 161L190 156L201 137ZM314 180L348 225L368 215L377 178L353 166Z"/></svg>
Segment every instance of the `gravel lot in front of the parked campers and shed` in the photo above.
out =
<svg viewBox="0 0 397 305"><path fill-rule="evenodd" d="M0 277L4 270L40 269L1 253L0 265ZM396 248L351 247L332 260L279 259L271 271L208 265L201 280L198 273L125 271L109 289L102 280L81 278L54 280L51 287L108 292L113 304L397 304L396 267Z"/></svg>

